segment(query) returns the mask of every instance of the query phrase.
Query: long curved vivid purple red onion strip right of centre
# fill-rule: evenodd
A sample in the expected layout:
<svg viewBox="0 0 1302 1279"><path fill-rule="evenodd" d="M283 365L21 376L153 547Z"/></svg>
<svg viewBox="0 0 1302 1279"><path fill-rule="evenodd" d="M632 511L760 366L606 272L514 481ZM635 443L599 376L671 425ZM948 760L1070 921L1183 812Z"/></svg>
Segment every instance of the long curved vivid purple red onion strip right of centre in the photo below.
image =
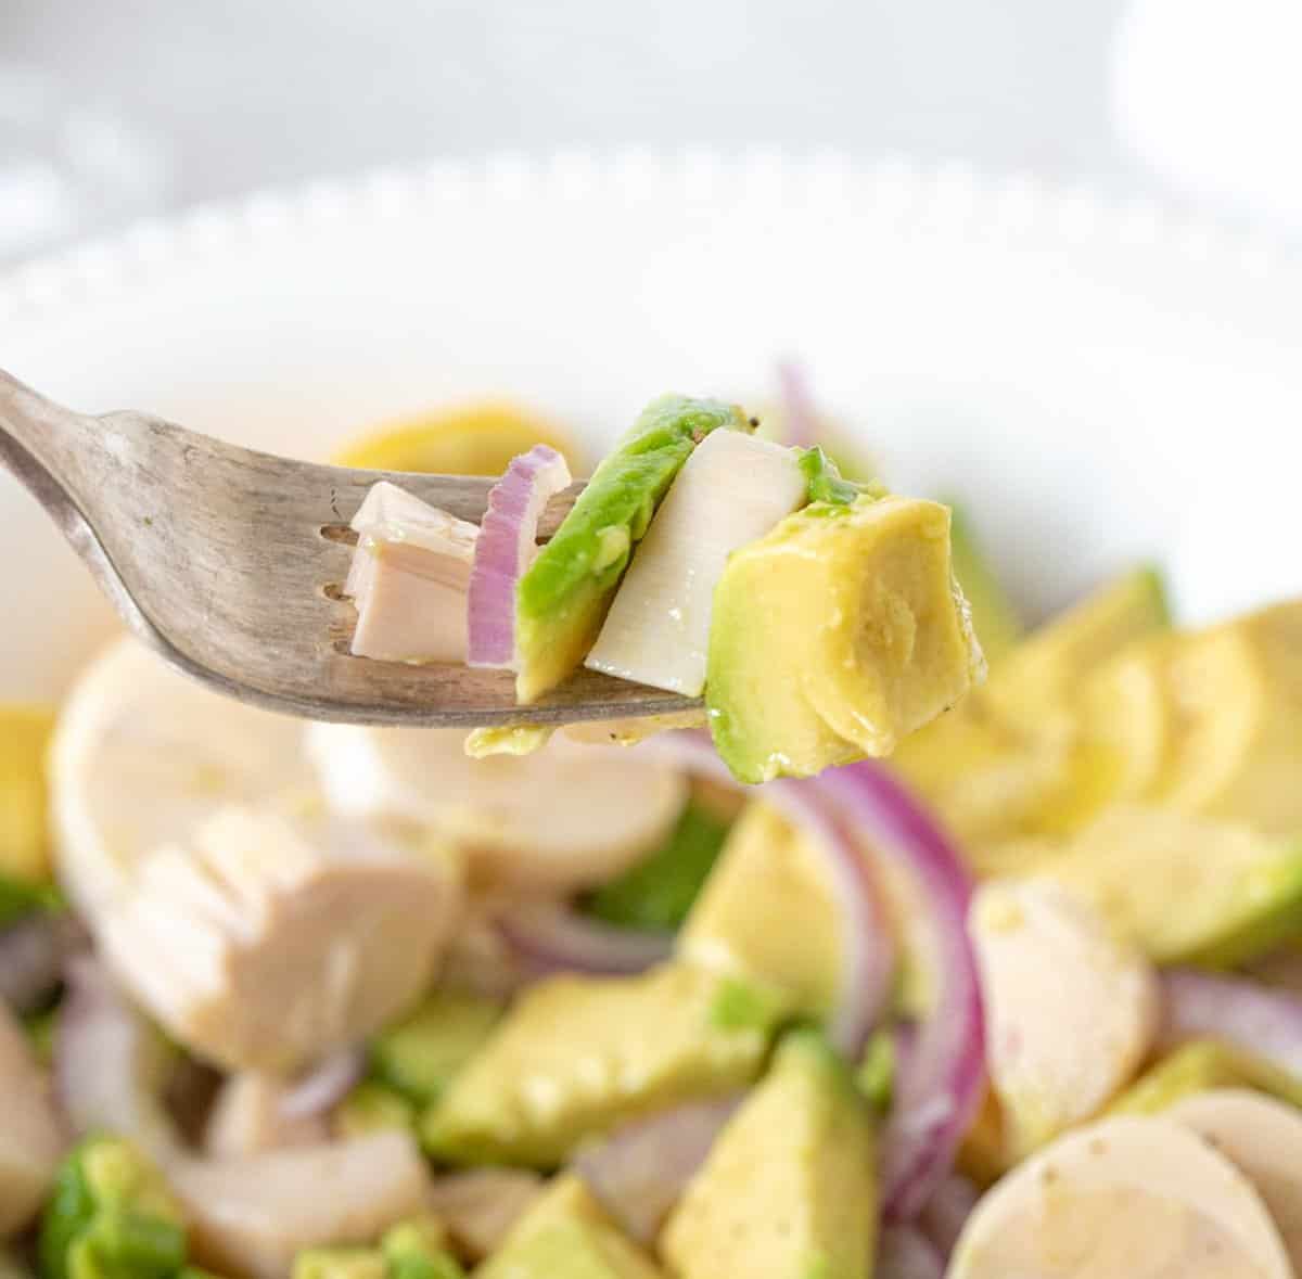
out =
<svg viewBox="0 0 1302 1279"><path fill-rule="evenodd" d="M862 828L876 856L892 858L917 880L931 907L935 1007L918 1024L915 1045L901 1063L881 1147L887 1216L909 1220L949 1172L980 1104L986 1032L967 936L971 879L937 826L878 765L829 768L812 784Z"/></svg>

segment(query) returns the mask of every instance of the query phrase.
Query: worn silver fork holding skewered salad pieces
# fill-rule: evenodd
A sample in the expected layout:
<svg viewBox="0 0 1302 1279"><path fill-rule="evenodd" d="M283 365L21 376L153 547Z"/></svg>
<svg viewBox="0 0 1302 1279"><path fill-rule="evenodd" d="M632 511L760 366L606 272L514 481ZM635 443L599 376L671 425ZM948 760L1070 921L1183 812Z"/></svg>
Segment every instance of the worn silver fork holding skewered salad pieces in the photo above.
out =
<svg viewBox="0 0 1302 1279"><path fill-rule="evenodd" d="M517 706L506 671L349 653L349 521L380 479L478 522L493 479L354 470L237 448L145 413L87 415L0 370L0 464L31 490L128 626L186 675L309 719L473 728L693 710L579 669ZM548 505L551 535L582 491Z"/></svg>

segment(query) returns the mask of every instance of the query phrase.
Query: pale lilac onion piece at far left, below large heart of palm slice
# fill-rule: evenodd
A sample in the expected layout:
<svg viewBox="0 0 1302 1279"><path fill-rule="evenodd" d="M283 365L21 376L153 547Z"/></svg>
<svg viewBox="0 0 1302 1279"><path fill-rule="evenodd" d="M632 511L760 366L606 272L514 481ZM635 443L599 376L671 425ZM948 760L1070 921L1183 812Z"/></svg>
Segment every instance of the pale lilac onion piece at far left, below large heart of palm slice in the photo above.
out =
<svg viewBox="0 0 1302 1279"><path fill-rule="evenodd" d="M55 1089L76 1136L129 1133L151 1153L178 1137L161 1097L172 1065L163 1037L91 955L72 959L55 1035Z"/></svg>

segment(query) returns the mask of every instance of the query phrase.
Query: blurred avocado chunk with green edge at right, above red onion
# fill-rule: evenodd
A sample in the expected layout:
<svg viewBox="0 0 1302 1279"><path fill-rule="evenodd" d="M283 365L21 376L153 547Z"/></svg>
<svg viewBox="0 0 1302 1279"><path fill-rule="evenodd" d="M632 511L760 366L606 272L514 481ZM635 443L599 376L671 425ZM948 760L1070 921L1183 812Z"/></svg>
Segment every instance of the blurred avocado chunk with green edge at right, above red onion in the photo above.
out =
<svg viewBox="0 0 1302 1279"><path fill-rule="evenodd" d="M1302 930L1302 840L1168 809L1116 808L1039 873L1157 964L1228 968Z"/></svg>

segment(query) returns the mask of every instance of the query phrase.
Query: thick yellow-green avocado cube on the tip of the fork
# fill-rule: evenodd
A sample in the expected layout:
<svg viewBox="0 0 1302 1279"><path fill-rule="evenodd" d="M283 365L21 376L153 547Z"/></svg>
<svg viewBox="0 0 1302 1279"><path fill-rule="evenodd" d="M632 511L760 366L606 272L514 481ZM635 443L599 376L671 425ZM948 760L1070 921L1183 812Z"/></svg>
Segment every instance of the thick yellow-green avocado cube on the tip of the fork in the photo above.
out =
<svg viewBox="0 0 1302 1279"><path fill-rule="evenodd" d="M736 551L715 587L706 706L742 781L889 754L980 669L932 501L815 503Z"/></svg>

